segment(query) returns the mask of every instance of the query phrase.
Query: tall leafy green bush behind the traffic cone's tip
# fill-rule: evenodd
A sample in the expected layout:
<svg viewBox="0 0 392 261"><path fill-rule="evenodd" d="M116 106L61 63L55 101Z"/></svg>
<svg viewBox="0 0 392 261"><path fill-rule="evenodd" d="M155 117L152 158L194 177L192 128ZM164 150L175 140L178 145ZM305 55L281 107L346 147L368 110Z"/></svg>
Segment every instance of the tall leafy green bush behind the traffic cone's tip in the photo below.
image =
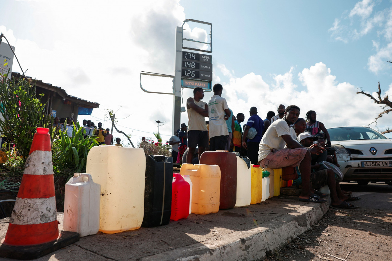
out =
<svg viewBox="0 0 392 261"><path fill-rule="evenodd" d="M20 157L27 158L36 128L50 128L53 117L45 114L42 95L37 97L30 79L9 80L7 74L0 74L0 97L5 119L0 121L2 135L15 144Z"/></svg>

